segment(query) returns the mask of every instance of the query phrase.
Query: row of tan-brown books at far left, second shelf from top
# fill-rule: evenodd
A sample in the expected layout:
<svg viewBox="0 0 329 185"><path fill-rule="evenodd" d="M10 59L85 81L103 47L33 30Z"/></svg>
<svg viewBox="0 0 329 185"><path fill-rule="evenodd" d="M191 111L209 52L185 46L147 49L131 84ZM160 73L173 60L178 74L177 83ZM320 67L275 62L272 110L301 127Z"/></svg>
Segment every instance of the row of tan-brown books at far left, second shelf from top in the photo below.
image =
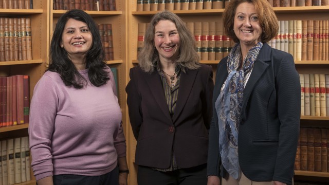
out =
<svg viewBox="0 0 329 185"><path fill-rule="evenodd" d="M32 60L31 18L0 17L0 61Z"/></svg>

